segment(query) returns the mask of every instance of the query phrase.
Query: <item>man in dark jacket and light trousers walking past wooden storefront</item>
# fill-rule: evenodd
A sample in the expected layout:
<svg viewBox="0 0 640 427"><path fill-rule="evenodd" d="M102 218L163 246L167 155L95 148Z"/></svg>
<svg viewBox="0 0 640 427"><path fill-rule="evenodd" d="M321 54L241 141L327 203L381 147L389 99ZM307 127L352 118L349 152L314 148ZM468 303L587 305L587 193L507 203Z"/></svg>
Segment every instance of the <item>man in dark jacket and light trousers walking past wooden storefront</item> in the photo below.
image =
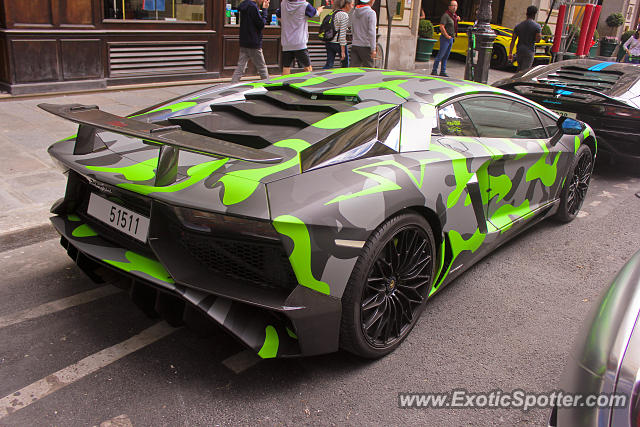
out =
<svg viewBox="0 0 640 427"><path fill-rule="evenodd" d="M258 4L262 10L258 8ZM240 12L240 54L238 66L231 78L232 83L237 83L244 75L247 62L251 60L258 69L261 79L269 78L267 64L262 54L262 29L267 22L267 9L269 0L244 0L238 6Z"/></svg>

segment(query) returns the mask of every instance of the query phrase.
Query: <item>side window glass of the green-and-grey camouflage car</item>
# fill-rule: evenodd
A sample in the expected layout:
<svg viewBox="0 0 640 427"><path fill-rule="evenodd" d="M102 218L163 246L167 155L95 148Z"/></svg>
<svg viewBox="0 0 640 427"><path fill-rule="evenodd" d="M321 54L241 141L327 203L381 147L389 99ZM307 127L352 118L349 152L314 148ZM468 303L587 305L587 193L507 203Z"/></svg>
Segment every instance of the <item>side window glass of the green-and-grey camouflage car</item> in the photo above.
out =
<svg viewBox="0 0 640 427"><path fill-rule="evenodd" d="M538 115L526 104L491 96L478 96L460 101L484 138L546 139L547 134Z"/></svg>

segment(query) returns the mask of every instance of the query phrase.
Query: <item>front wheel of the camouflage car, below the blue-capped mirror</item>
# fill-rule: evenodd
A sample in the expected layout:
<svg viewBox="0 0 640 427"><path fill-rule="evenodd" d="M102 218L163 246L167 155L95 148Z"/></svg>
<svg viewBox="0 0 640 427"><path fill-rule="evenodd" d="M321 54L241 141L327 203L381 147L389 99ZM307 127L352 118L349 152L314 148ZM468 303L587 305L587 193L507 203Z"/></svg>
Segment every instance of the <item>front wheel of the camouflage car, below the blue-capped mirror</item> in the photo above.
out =
<svg viewBox="0 0 640 427"><path fill-rule="evenodd" d="M560 206L558 207L558 212L556 212L556 219L561 222L569 222L573 221L578 215L589 189L592 171L593 156L591 149L582 144L573 158L569 174L560 194Z"/></svg>

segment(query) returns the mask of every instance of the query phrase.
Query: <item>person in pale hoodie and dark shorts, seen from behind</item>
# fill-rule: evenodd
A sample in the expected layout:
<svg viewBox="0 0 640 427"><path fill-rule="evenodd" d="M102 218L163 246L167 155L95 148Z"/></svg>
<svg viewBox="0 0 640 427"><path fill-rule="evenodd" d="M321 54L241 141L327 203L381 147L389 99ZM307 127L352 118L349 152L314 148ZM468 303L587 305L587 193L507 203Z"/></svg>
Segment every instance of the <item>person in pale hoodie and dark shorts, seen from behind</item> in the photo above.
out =
<svg viewBox="0 0 640 427"><path fill-rule="evenodd" d="M320 16L323 6L311 6L306 0L282 0L276 15L280 18L280 42L282 44L282 74L291 74L291 65L296 59L305 71L311 71L311 59L307 42L309 26L307 17Z"/></svg>

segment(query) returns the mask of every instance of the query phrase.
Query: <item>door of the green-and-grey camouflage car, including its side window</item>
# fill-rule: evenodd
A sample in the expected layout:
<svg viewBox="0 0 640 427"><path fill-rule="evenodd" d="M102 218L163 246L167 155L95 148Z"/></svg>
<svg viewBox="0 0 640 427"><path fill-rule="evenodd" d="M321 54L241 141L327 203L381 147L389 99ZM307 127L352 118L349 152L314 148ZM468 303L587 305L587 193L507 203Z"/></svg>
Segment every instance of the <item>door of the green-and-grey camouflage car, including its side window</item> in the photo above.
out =
<svg viewBox="0 0 640 427"><path fill-rule="evenodd" d="M562 146L531 105L506 95L471 96L460 105L480 143L493 153L487 169L487 218L496 229L506 230L514 221L532 217L555 199Z"/></svg>

